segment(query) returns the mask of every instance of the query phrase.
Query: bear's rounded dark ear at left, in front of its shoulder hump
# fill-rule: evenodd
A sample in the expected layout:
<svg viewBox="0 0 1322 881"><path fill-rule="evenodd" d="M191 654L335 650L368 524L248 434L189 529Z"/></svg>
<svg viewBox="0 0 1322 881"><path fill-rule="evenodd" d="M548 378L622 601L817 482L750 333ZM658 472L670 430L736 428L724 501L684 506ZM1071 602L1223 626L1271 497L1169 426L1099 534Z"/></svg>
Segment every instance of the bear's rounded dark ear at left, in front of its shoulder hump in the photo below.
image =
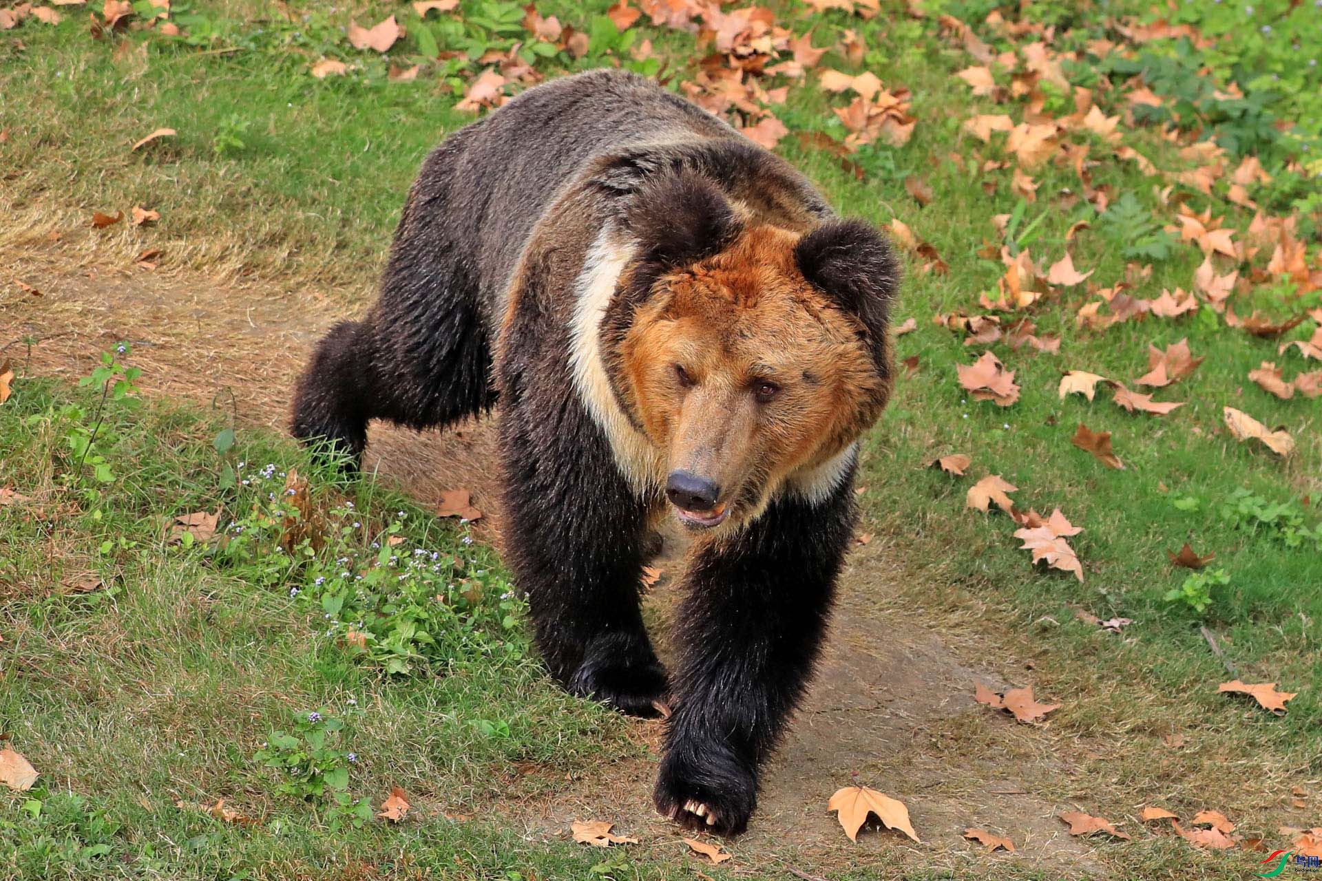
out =
<svg viewBox="0 0 1322 881"><path fill-rule="evenodd" d="M720 188L690 169L644 184L629 198L624 221L645 259L666 268L718 254L742 227Z"/></svg>

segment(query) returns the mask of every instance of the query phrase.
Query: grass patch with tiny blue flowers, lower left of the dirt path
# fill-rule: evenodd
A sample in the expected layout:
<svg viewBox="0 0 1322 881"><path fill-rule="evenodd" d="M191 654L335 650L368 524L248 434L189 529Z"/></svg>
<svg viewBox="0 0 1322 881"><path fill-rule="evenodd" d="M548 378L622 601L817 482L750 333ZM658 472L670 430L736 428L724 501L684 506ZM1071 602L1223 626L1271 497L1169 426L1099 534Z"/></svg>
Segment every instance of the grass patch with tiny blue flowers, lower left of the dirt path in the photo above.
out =
<svg viewBox="0 0 1322 881"><path fill-rule="evenodd" d="M213 448L219 420L172 407L112 407L100 431L112 439L104 452L116 479L100 485L90 468L78 479L62 413L75 403L91 416L93 402L26 383L0 425L0 445L11 450L0 483L17 483L33 499L0 509L0 629L9 656L0 728L41 757L42 774L33 791L5 796L0 824L12 847L0 851L0 876L104 877L108 866L124 865L130 877L287 877L319 874L341 853L378 863L405 849L419 865L435 863L436 853L449 863L459 840L483 872L525 859L526 843L443 816L399 832L381 823L353 828L345 816L328 836L325 824L336 819L329 799L282 798L276 786L299 778L258 756L274 730L291 730L311 711L344 722L328 746L349 771L348 795L375 806L402 786L415 810L427 812L500 796L500 781L516 767L574 773L603 753L633 749L623 720L568 697L529 658L521 604L501 597L509 585L498 563L463 540L467 530L371 483L341 486L264 433L241 432L238 458L226 460ZM262 465L245 464L245 487L227 476L237 461L274 469L263 479ZM54 465L56 477L34 485L41 464ZM327 546L303 563L278 548L283 520L239 547L260 532L264 516L253 511L280 505L266 495L280 498L280 473L291 468L311 473L325 493L345 493L365 527L350 526L342 538L328 530ZM222 528L231 536L223 547L164 539L173 515L218 507L222 527L230 518L247 524L243 539L233 528ZM414 622L430 626L442 645L424 649L424 662L414 651L393 655L415 664L412 676L387 674L389 652L371 663L307 596L321 564L334 565L337 555L361 552L373 584L371 543L391 536L402 539L387 543L402 557L426 551L430 560L435 551L443 567L457 561L442 579L453 577L455 590L432 606L453 616ZM301 557L297 551L292 556ZM71 589L83 573L103 586ZM457 584L461 576L468 580ZM393 602L405 593L379 582L369 590ZM364 629L369 646L378 637L390 642L389 625L370 614ZM346 762L346 752L357 761ZM538 779L534 773L525 781L526 794L545 786ZM259 820L262 832L175 806L215 799ZM568 851L537 860L591 865Z"/></svg>

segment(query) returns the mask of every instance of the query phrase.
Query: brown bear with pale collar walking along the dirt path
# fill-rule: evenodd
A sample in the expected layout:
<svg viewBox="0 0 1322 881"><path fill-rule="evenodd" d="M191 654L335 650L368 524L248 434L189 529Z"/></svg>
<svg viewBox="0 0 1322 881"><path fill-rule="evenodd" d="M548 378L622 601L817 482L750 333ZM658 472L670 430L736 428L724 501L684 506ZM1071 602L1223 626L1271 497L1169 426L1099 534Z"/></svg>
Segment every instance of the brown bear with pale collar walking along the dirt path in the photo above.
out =
<svg viewBox="0 0 1322 881"><path fill-rule="evenodd" d="M657 808L744 829L804 692L891 392L899 271L791 165L642 78L531 88L427 157L381 296L299 384L293 433L497 405L509 563L555 679L668 703ZM678 668L640 613L652 527L694 534Z"/></svg>

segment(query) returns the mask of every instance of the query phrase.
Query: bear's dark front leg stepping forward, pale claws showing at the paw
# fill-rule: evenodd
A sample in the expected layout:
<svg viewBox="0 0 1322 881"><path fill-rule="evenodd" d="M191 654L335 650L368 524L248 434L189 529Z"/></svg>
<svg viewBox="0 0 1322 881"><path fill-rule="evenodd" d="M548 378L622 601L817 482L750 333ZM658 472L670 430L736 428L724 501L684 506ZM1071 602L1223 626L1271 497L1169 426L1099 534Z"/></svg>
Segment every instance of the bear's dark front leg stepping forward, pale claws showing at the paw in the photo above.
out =
<svg viewBox="0 0 1322 881"><path fill-rule="evenodd" d="M759 769L817 660L854 519L847 479L821 505L773 502L744 532L694 559L656 785L661 814L722 835L747 827Z"/></svg>

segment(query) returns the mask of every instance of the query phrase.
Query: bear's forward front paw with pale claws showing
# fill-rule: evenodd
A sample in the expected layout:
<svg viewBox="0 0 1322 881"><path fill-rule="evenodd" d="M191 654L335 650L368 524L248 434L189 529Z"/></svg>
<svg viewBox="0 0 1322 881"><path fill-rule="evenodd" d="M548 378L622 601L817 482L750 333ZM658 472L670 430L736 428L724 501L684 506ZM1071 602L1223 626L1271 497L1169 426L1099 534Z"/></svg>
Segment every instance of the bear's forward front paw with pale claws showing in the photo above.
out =
<svg viewBox="0 0 1322 881"><path fill-rule="evenodd" d="M657 811L689 829L739 835L758 807L758 778L728 752L672 750L653 795Z"/></svg>

